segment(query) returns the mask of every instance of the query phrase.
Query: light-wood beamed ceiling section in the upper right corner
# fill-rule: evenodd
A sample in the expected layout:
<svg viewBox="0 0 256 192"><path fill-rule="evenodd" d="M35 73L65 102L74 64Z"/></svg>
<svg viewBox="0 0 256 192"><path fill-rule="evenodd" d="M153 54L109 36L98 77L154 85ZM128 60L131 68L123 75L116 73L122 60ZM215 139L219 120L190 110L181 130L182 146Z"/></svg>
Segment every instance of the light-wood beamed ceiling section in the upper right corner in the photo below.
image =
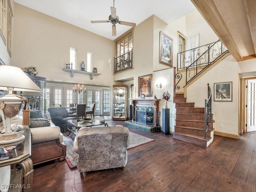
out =
<svg viewBox="0 0 256 192"><path fill-rule="evenodd" d="M191 0L237 61L256 58L256 0Z"/></svg>

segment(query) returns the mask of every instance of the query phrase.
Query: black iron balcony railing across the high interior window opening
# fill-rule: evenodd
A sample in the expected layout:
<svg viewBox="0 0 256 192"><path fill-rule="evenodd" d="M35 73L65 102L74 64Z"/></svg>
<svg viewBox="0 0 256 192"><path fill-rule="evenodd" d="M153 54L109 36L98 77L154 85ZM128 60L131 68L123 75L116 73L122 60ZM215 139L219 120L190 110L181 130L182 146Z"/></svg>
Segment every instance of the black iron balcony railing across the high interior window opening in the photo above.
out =
<svg viewBox="0 0 256 192"><path fill-rule="evenodd" d="M114 74L132 68L132 51L114 59Z"/></svg>

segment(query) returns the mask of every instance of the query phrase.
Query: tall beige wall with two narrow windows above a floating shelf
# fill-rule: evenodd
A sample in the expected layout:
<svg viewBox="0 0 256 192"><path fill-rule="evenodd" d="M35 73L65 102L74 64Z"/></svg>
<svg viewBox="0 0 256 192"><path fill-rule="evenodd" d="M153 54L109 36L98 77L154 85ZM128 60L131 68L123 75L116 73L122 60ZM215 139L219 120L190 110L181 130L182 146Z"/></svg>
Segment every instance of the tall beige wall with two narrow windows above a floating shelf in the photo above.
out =
<svg viewBox="0 0 256 192"><path fill-rule="evenodd" d="M113 84L114 41L20 4L15 4L15 31L11 64L20 68L37 67L38 76L47 80L86 84ZM70 47L77 48L77 66L87 64L87 52L93 53L93 66L101 75L90 76L64 72L70 60Z"/></svg>

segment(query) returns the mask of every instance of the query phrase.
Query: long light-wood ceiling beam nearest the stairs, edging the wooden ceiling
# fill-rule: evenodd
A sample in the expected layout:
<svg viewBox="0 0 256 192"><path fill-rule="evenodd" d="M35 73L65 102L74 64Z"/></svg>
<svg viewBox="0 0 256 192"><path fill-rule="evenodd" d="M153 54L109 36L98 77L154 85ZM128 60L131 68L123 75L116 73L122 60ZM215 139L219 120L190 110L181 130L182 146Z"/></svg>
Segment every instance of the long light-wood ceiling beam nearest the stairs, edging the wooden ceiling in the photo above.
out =
<svg viewBox="0 0 256 192"><path fill-rule="evenodd" d="M228 48L229 52L237 61L242 61L243 56L234 38L226 26L214 0L191 0L212 30Z"/></svg>

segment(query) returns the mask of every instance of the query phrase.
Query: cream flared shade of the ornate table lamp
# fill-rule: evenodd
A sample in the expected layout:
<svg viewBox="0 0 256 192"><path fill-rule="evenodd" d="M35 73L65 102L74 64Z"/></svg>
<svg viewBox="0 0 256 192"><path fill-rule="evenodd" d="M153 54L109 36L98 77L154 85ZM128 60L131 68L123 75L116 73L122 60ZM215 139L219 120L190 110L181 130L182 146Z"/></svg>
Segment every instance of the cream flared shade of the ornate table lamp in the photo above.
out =
<svg viewBox="0 0 256 192"><path fill-rule="evenodd" d="M0 90L33 91L42 90L20 68L15 66L0 66Z"/></svg>

